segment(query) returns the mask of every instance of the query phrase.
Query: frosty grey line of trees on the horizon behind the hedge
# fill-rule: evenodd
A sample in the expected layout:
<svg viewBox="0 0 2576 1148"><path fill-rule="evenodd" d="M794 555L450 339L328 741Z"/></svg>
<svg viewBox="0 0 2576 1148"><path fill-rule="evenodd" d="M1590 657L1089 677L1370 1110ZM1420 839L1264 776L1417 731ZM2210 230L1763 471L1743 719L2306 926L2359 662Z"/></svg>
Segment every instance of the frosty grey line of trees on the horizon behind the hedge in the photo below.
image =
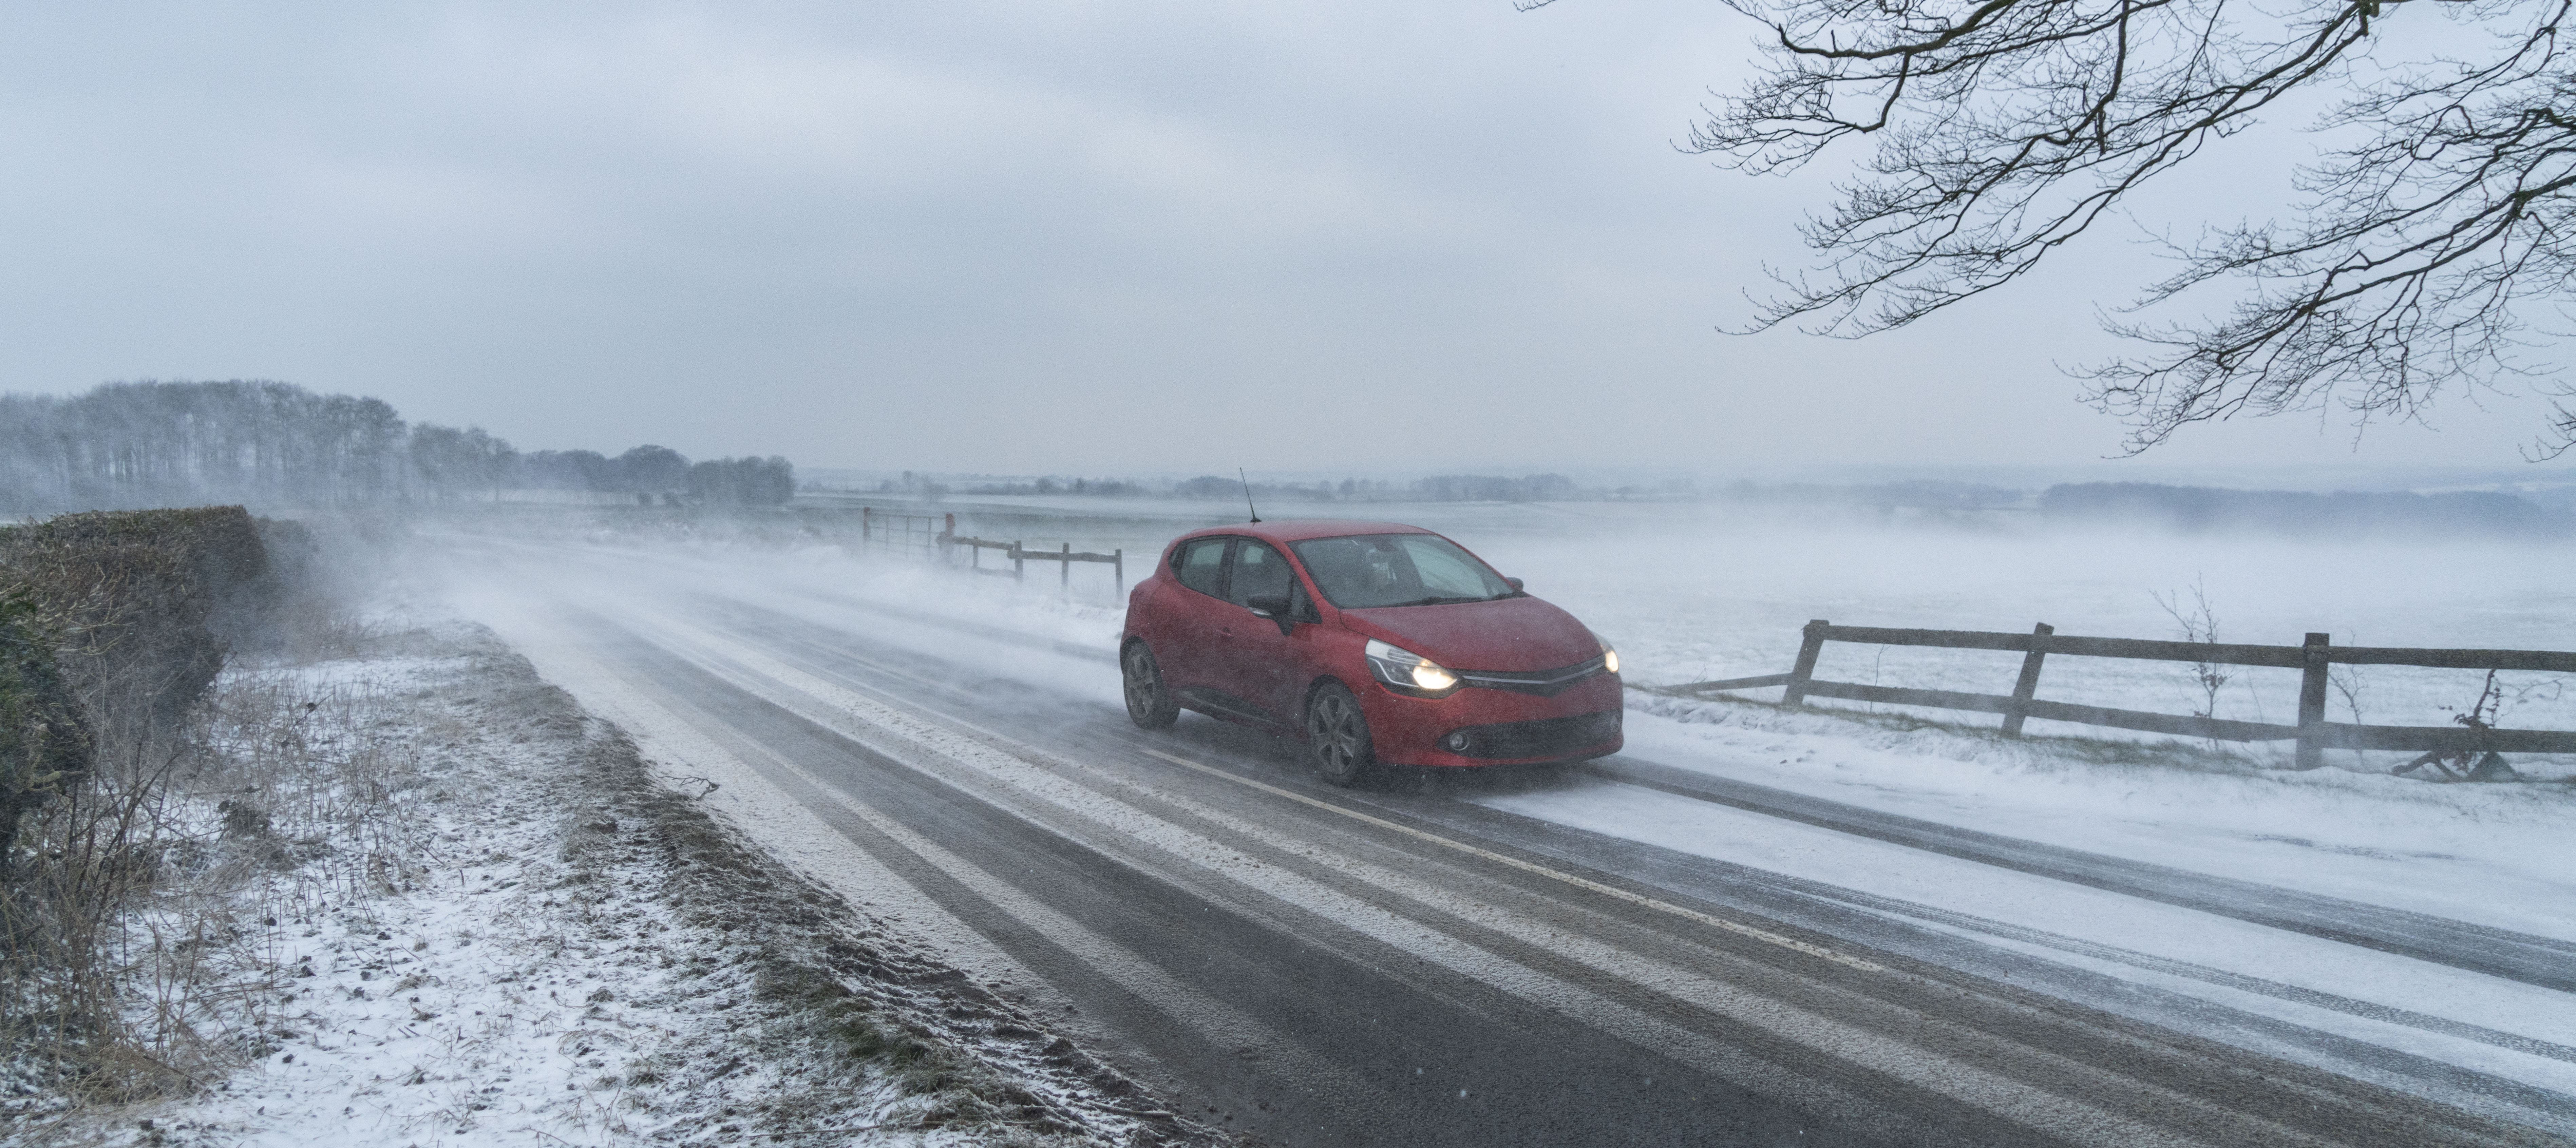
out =
<svg viewBox="0 0 2576 1148"><path fill-rule="evenodd" d="M520 456L482 427L404 422L384 399L270 381L0 394L0 512L456 502L513 489L762 505L796 492L796 468L690 463L659 445Z"/></svg>

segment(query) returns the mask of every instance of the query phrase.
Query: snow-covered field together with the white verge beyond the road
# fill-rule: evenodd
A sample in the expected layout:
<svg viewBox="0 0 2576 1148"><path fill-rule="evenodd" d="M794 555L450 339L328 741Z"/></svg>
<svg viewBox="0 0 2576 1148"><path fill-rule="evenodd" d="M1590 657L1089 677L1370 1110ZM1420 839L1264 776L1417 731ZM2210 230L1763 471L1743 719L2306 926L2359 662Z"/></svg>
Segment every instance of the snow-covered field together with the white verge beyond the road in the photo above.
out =
<svg viewBox="0 0 2576 1148"><path fill-rule="evenodd" d="M2223 641L2298 643L2306 631L2329 631L2339 643L2576 649L2576 582L2563 577L2576 551L2530 543L1798 528L1638 505L1600 515L1582 505L1368 510L1445 530L1525 577L1535 595L1610 636L1633 682L1788 669L1808 618L1994 631L2048 620L2058 633L2169 638L2174 620L2156 595L2195 584ZM969 523L961 517L961 530ZM1074 530L1087 525L1066 525ZM1151 553L1164 538L1141 533L1131 553ZM623 561L634 587L721 584L788 615L1118 705L1115 674L1097 659L1025 641L1105 651L1121 625L1105 577L1066 595L1043 566L1046 577L1015 584L837 548L600 553ZM1077 569L1077 579L1084 574ZM2014 654L1829 646L1819 674L2007 692L2017 664ZM2050 659L2040 695L2192 713L2187 674L2154 662ZM2576 695L2545 674L2506 677L2517 677L2522 700L2504 723L2576 728ZM2367 667L2357 698L2370 723L2445 723L2442 705L2465 705L2478 685L2470 672ZM2293 672L2246 669L2221 692L2218 713L2285 721L2293 705ZM2331 705L2336 721L2352 721L2342 695ZM1631 695L1628 754L2009 837L2576 937L2576 878L2558 862L2576 831L2576 785L2566 782L2576 764L2566 759L2517 757L2530 777L2517 785L2434 785L2388 777L2401 754L2334 752L2329 770L2287 772L2272 770L2287 746L2179 744L2043 721L2012 741L1991 731L1991 716L1868 710Z"/></svg>

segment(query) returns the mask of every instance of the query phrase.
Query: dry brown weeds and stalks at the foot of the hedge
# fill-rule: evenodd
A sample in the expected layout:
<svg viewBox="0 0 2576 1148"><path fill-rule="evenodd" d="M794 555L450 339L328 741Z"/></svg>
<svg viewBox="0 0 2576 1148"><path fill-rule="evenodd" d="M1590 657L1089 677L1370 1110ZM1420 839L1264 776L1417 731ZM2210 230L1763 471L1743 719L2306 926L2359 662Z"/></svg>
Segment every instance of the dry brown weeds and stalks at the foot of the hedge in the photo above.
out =
<svg viewBox="0 0 2576 1148"><path fill-rule="evenodd" d="M0 885L0 1122L191 1091L265 1053L276 921L417 880L399 708L281 664L118 741L21 826Z"/></svg>

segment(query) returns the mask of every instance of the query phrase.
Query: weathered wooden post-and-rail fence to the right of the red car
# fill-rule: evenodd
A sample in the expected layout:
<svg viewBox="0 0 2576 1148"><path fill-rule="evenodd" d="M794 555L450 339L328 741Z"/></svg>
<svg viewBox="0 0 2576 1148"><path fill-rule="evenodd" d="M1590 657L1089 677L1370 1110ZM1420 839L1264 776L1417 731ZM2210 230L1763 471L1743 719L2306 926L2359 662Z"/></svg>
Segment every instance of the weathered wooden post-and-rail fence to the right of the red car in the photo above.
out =
<svg viewBox="0 0 2576 1148"><path fill-rule="evenodd" d="M1826 641L1852 641L1870 646L1935 646L1935 649L1994 649L2022 654L2022 677L2012 682L2012 695L1906 690L1888 685L1826 682L1816 677L1816 656ZM2094 659L2146 659L2146 662L2202 662L2226 667L2277 667L2298 669L2298 726L2262 721L2228 721L2179 713L2117 710L2107 705L2071 705L2032 698L2040 687L2040 667L2050 654ZM1899 631L1880 625L1834 625L1824 618L1806 623L1806 641L1798 643L1798 662L1785 674L1734 677L1723 682L1692 682L1664 687L1674 695L1708 695L1723 690L1759 690L1777 685L1780 705L1803 705L1808 698L1842 698L1855 703L1929 705L1940 710L2002 713L2004 734L2020 736L2022 721L2074 721L2084 726L2136 728L2146 734L2174 734L2213 741L2298 741L2298 767L2324 764L2326 749L2421 749L2421 752L2522 752L2522 754L2576 754L2576 734L2548 728L2476 728L2476 726L2352 726L2326 721L2329 667L2434 667L2434 669L2537 669L2576 672L2576 654L2532 649L2393 649L2393 646L2334 646L2324 633L2311 633L2306 646L2241 646L2215 641L2146 641L2146 638L2076 638L2056 633L2048 623L2030 633L1991 631Z"/></svg>

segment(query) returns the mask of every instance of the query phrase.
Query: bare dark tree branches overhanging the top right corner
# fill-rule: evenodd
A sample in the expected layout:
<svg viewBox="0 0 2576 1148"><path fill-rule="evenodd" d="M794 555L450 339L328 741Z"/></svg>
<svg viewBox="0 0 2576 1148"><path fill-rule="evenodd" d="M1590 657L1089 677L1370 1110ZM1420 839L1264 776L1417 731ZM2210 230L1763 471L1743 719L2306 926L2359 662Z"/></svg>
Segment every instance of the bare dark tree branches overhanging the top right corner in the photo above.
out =
<svg viewBox="0 0 2576 1148"><path fill-rule="evenodd" d="M1726 3L1767 26L1765 64L1708 108L1692 152L1783 172L1875 142L1803 229L1824 265L1777 275L1754 329L1870 335L1994 291L2210 144L2326 93L2339 103L2313 129L2347 147L2300 172L2298 219L2172 245L2179 270L2138 299L2233 281L2233 309L2107 319L2146 350L2081 368L2087 396L2146 450L2202 420L2339 404L2367 425L2543 373L2517 347L2524 309L2561 304L2576 273L2576 67L2558 39L2576 0ZM2486 46L2424 54L2429 21ZM2403 39L2385 54L2419 54L2380 59L2388 28ZM2561 402L2535 453L2571 445Z"/></svg>

